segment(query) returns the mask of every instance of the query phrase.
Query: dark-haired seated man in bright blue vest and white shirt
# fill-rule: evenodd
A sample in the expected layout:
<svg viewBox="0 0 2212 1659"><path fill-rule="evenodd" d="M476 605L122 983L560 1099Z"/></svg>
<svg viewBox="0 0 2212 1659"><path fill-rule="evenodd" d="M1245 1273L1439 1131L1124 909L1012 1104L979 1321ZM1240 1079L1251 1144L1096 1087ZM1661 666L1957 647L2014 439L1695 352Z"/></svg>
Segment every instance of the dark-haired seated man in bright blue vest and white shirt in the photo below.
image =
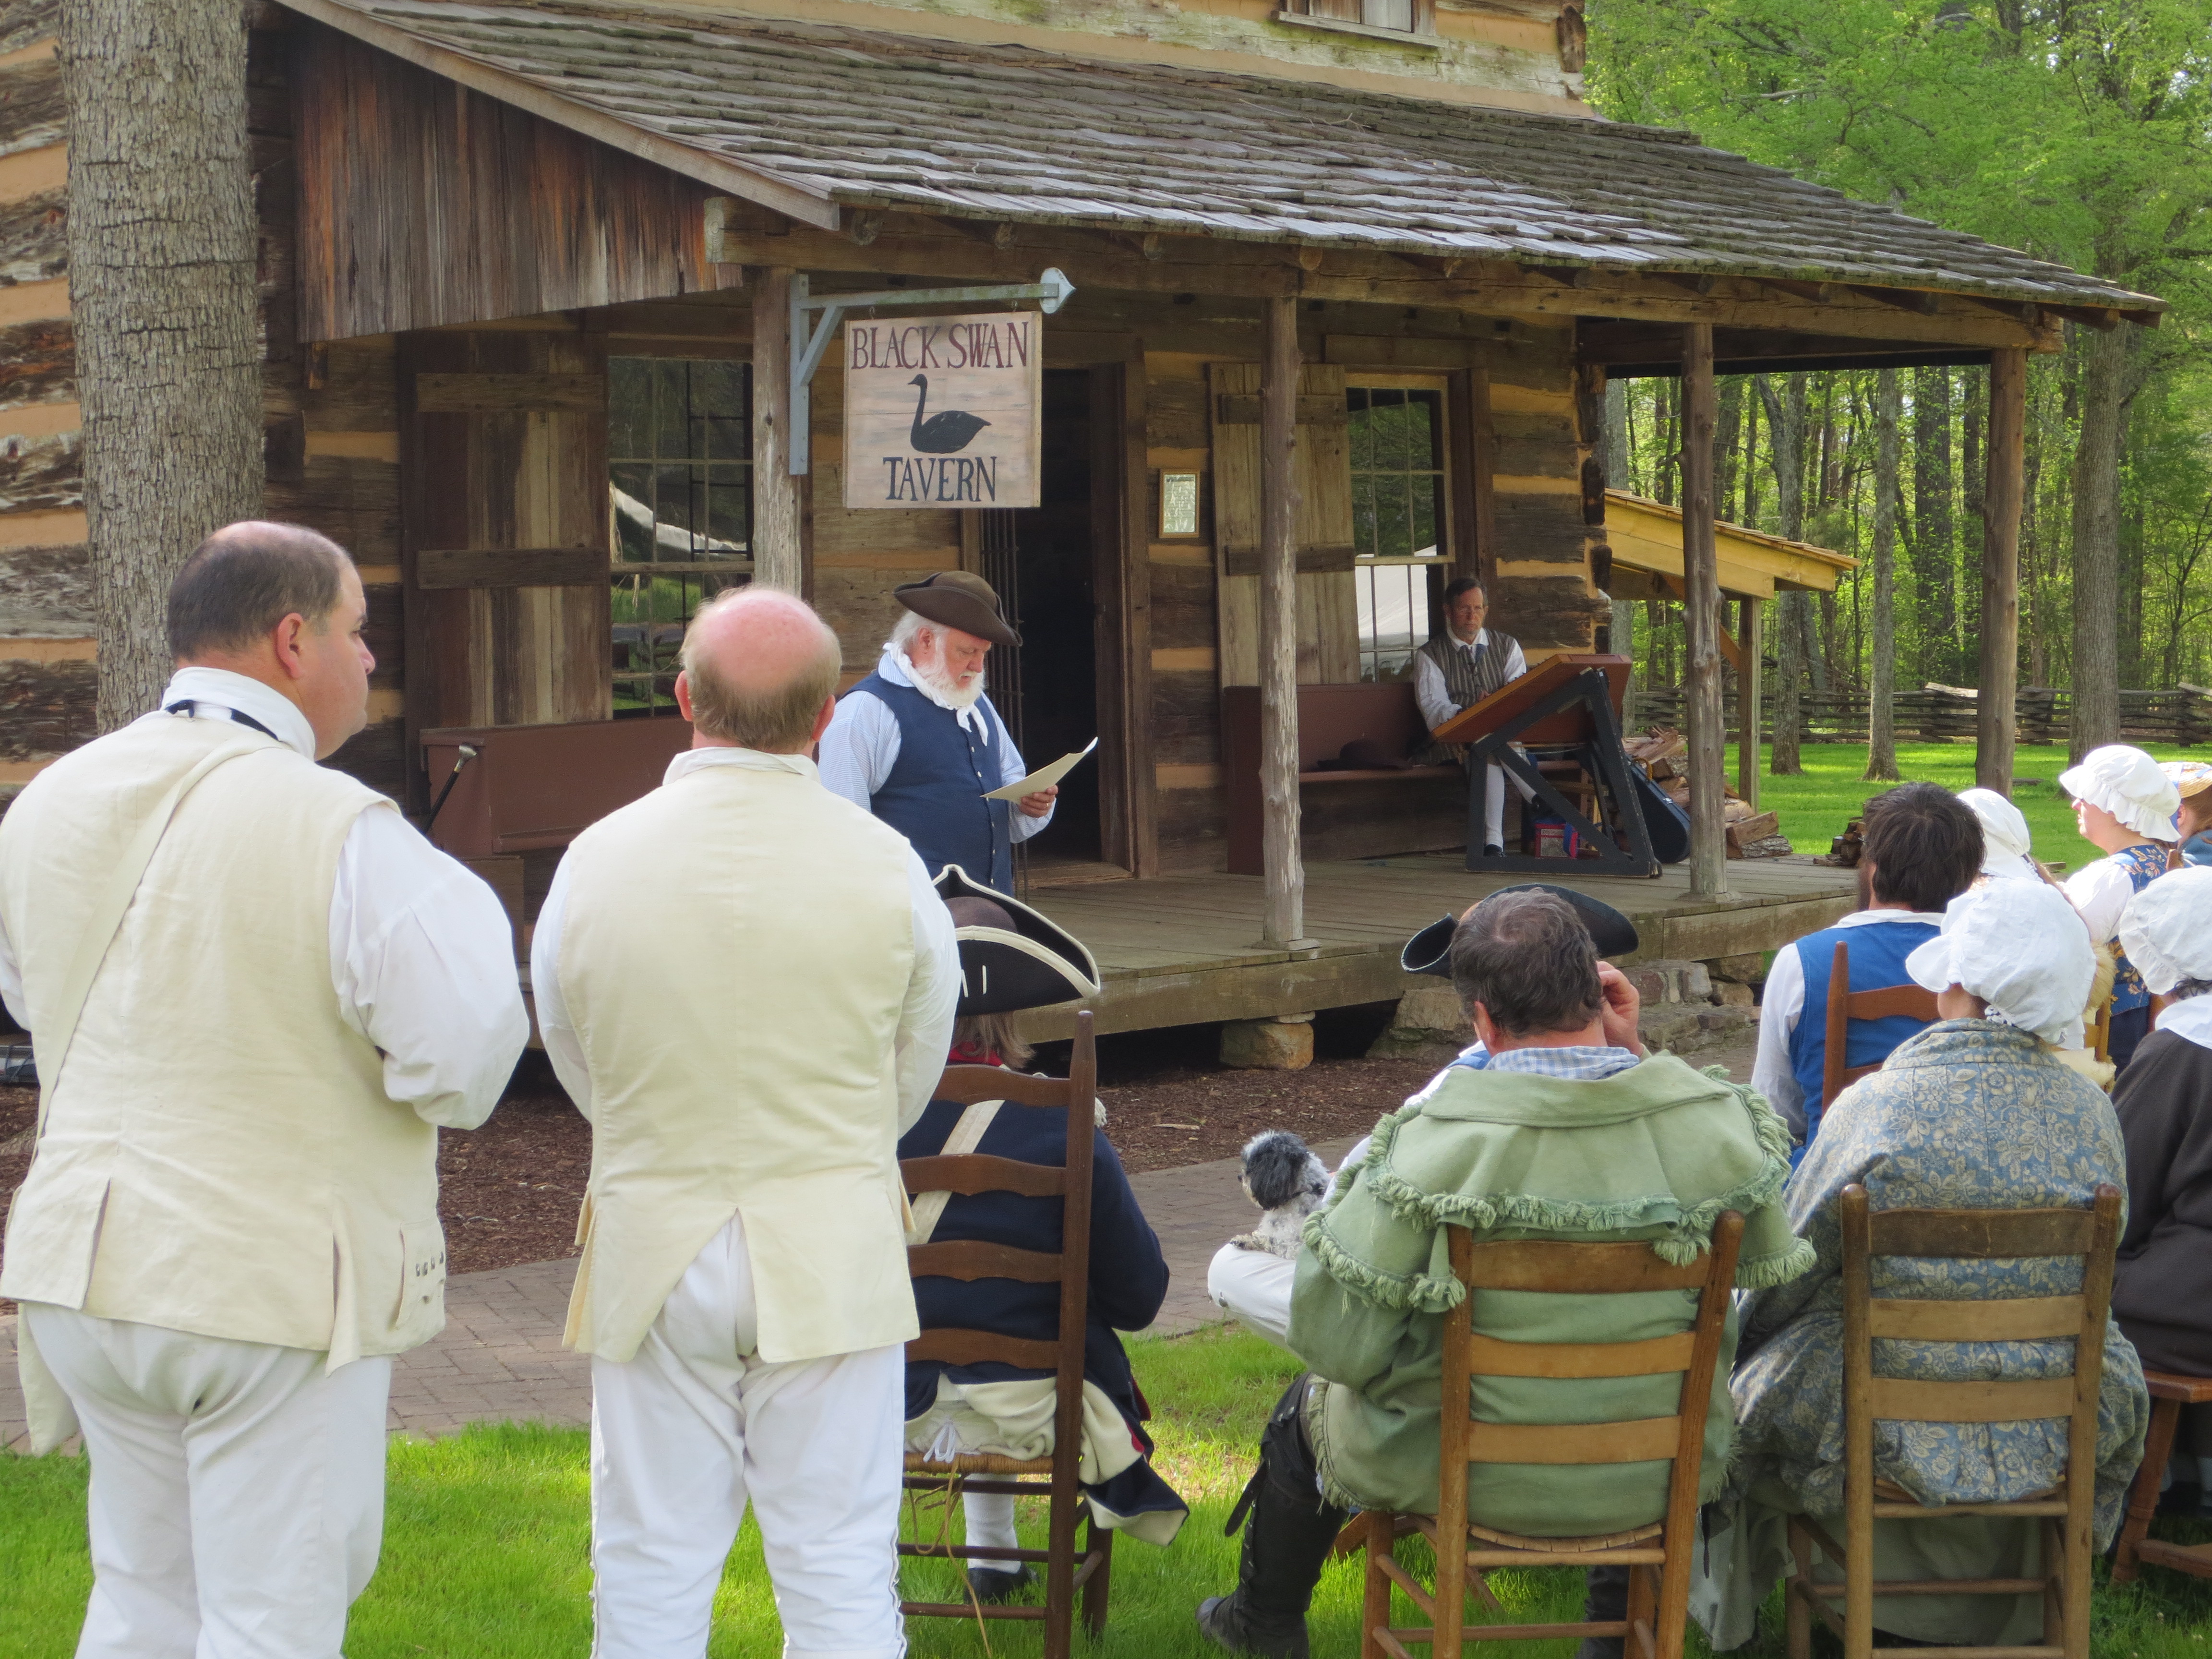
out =
<svg viewBox="0 0 2212 1659"><path fill-rule="evenodd" d="M1940 783L1900 783L1867 803L1858 909L1774 953L1759 1009L1752 1088L1783 1115L1798 1157L1820 1130L1827 980L1836 945L1851 949L1851 991L1911 984L1905 958L1942 931L1942 911L1982 874L1982 821ZM1878 1066L1920 1020L1854 1020L1845 1064Z"/></svg>

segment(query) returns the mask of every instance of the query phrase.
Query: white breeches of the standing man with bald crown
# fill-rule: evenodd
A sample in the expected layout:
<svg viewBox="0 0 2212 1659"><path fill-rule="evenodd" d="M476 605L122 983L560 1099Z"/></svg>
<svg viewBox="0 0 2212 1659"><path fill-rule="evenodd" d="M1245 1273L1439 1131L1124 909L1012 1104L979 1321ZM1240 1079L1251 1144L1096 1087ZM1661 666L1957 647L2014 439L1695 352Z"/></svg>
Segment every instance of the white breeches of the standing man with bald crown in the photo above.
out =
<svg viewBox="0 0 2212 1659"><path fill-rule="evenodd" d="M597 1659L699 1659L750 1498L785 1659L898 1659L902 1345L770 1365L732 1221L637 1358L591 1363Z"/></svg>

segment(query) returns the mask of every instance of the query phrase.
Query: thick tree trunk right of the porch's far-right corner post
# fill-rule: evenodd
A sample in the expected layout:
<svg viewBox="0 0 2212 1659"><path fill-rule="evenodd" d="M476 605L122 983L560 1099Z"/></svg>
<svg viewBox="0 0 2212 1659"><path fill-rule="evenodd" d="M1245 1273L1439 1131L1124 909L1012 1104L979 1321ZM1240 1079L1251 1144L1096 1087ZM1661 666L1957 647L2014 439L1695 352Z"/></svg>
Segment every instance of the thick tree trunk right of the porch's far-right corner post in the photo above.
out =
<svg viewBox="0 0 2212 1659"><path fill-rule="evenodd" d="M2119 741L2119 422L2128 330L2081 332L2081 438L2073 467L2073 732L2079 761Z"/></svg>

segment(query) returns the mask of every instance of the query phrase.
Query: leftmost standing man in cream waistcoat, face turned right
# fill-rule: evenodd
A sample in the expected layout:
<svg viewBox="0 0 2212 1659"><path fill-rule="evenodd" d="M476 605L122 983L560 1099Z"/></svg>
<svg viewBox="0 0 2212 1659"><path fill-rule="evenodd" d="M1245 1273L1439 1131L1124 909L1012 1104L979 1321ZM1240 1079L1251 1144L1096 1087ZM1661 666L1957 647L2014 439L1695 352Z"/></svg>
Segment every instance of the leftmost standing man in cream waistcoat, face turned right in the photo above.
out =
<svg viewBox="0 0 2212 1659"><path fill-rule="evenodd" d="M438 1126L529 1037L500 900L314 763L367 721L365 611L314 531L219 531L161 708L0 823L44 1086L0 1296L33 1444L93 1460L77 1659L336 1659L392 1356L445 1325Z"/></svg>

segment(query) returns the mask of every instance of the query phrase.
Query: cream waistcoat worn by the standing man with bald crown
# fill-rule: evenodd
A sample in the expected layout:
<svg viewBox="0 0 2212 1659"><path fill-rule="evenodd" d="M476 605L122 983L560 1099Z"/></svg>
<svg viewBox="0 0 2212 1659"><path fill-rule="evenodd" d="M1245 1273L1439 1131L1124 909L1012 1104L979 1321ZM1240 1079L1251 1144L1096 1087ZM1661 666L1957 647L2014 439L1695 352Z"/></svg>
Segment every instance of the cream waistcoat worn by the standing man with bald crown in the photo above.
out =
<svg viewBox="0 0 2212 1659"><path fill-rule="evenodd" d="M918 1334L894 1073L909 858L814 776L730 765L568 847L560 989L593 1088L571 1347L630 1358L732 1214L763 1360Z"/></svg>

